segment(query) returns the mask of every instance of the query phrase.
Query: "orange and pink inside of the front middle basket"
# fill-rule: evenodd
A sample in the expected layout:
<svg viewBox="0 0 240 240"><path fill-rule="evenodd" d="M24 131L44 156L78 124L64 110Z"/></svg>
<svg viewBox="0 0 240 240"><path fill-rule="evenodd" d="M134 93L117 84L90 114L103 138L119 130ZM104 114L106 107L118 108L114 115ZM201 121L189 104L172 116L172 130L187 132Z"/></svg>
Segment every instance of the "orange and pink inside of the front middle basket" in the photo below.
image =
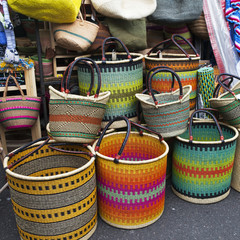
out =
<svg viewBox="0 0 240 240"><path fill-rule="evenodd" d="M115 158L118 154L125 133L110 134L103 138L99 153ZM132 133L121 155L121 160L144 161L157 158L166 152L166 146L159 139L151 136L140 136L139 133Z"/></svg>

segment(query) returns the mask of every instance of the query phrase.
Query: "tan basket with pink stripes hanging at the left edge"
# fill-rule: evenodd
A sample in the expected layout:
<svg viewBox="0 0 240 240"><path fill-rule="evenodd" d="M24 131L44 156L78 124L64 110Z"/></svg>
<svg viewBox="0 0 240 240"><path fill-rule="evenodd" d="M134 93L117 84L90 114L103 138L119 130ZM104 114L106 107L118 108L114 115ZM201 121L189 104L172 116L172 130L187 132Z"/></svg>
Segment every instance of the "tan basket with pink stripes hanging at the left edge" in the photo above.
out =
<svg viewBox="0 0 240 240"><path fill-rule="evenodd" d="M21 95L7 97L10 78L14 80ZM24 95L16 78L9 75L6 80L3 97L0 99L1 125L7 130L31 128L38 118L40 104L40 97Z"/></svg>

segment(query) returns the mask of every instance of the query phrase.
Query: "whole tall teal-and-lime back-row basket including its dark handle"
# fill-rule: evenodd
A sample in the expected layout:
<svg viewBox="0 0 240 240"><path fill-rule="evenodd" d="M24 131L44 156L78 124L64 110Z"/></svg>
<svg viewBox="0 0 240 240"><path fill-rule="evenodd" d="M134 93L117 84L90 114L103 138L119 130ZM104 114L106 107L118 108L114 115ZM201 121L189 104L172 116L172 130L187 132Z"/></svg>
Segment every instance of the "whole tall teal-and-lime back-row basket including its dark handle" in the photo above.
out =
<svg viewBox="0 0 240 240"><path fill-rule="evenodd" d="M108 41L118 41L125 49L126 53L107 52L105 45ZM143 55L139 53L129 53L126 46L114 37L106 38L102 45L102 55L93 54L83 57L90 57L98 64L102 77L102 91L110 91L111 96L107 103L107 109L102 121L102 128L117 116L126 116L132 121L137 121L137 99L136 93L143 90ZM79 89L81 94L88 91L91 80L90 70L81 65L78 67ZM93 89L96 89L94 86ZM113 123L112 128L125 127L125 122Z"/></svg>

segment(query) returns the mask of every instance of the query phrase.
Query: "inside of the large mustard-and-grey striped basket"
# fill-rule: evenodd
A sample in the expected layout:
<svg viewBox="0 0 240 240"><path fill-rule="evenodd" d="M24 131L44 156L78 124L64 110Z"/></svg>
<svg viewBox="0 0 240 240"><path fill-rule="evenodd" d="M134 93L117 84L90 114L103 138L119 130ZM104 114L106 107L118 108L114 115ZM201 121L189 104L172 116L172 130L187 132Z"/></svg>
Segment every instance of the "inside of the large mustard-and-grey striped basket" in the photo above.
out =
<svg viewBox="0 0 240 240"><path fill-rule="evenodd" d="M30 153L35 148L36 146L30 147L22 152L17 153L15 156L9 159L8 165ZM61 145L57 146L57 148L70 151L89 152L87 148L80 145ZM90 156L85 154L63 153L53 150L49 148L49 144L47 144L27 159L13 166L10 170L14 173L24 176L55 176L80 168L90 161L90 159Z"/></svg>

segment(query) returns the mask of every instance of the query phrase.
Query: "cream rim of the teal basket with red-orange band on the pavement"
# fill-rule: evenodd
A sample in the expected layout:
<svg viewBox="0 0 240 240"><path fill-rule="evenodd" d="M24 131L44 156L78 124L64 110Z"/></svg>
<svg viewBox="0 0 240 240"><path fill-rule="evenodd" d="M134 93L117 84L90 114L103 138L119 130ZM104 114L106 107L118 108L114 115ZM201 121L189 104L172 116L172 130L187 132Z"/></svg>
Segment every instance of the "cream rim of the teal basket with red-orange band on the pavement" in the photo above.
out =
<svg viewBox="0 0 240 240"><path fill-rule="evenodd" d="M201 120L201 121L195 119L195 120L193 120L193 122L195 124L214 123L213 120L205 120L205 119ZM237 128L235 128L233 126L230 126L230 125L228 125L226 123L223 123L223 122L219 122L219 125L220 125L220 127L221 127L221 125L224 125L225 127L231 128L235 132L235 136L233 136L233 137L231 137L229 139L224 139L225 143L232 142L232 141L234 141L234 140L236 140L238 138L239 132L238 132ZM176 139L179 140L180 142L189 143L189 139L182 138L180 136L176 136ZM221 140L219 140L219 141L196 141L196 140L193 140L192 144L203 144L203 145L207 145L207 144L208 145L209 144L222 144L222 141Z"/></svg>

